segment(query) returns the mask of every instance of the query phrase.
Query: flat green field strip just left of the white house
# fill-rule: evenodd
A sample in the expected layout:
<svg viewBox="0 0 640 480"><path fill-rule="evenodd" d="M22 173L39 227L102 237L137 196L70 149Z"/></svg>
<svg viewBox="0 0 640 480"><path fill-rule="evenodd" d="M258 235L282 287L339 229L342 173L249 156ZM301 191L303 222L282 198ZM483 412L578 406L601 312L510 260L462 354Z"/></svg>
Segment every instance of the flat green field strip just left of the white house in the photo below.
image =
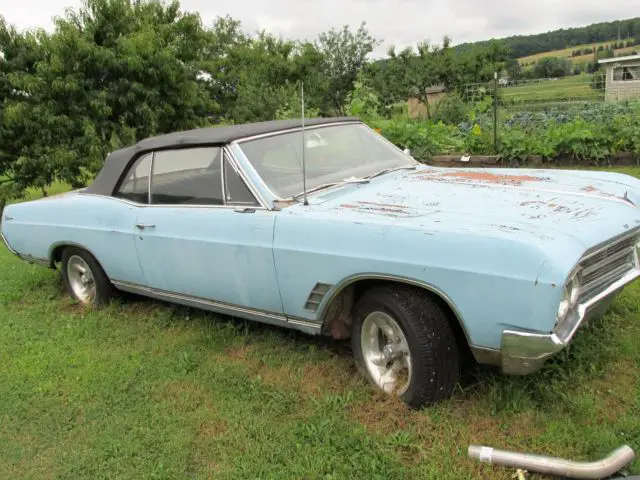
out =
<svg viewBox="0 0 640 480"><path fill-rule="evenodd" d="M505 104L556 100L599 100L603 92L591 88L591 75L583 74L557 80L524 83L500 89Z"/></svg>

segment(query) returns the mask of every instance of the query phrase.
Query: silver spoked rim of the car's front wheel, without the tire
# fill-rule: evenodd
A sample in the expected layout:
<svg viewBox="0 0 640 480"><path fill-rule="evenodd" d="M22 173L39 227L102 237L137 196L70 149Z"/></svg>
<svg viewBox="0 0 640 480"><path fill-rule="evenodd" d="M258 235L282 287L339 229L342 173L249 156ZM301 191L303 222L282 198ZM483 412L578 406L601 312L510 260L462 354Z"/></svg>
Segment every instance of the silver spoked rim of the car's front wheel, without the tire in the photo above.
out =
<svg viewBox="0 0 640 480"><path fill-rule="evenodd" d="M390 315L372 312L362 324L362 356L374 383L386 393L402 395L411 383L411 352L400 328Z"/></svg>

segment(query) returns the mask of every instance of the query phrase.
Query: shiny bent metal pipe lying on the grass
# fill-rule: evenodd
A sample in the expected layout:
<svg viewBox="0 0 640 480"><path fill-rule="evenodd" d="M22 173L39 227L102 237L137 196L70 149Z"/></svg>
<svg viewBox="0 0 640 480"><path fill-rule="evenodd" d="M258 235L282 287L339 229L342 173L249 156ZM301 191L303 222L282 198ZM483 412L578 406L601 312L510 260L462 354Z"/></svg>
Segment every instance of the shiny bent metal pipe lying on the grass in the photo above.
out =
<svg viewBox="0 0 640 480"><path fill-rule="evenodd" d="M635 458L635 452L624 445L597 462L575 462L564 458L544 457L528 453L508 452L480 445L469 445L469 457L481 462L521 468L565 478L606 478L619 472Z"/></svg>

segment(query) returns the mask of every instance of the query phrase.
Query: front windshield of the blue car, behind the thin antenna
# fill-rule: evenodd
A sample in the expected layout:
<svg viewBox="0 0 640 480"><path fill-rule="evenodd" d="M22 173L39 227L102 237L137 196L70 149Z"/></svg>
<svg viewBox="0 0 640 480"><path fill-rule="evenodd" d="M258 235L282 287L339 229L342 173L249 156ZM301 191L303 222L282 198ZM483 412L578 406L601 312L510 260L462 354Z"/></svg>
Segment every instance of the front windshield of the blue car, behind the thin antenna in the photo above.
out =
<svg viewBox="0 0 640 480"><path fill-rule="evenodd" d="M416 163L359 123L308 128L305 142L307 190ZM240 147L276 196L302 192L301 131L246 140Z"/></svg>

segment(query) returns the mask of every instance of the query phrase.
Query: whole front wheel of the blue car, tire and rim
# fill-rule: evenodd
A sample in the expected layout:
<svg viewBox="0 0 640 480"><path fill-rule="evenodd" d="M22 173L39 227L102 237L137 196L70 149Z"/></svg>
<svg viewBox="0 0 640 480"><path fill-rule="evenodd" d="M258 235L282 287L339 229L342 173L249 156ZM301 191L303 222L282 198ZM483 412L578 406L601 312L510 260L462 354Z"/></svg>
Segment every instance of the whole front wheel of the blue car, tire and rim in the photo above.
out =
<svg viewBox="0 0 640 480"><path fill-rule="evenodd" d="M355 307L352 349L358 370L377 388L420 408L448 398L460 354L446 312L426 292L378 287Z"/></svg>

